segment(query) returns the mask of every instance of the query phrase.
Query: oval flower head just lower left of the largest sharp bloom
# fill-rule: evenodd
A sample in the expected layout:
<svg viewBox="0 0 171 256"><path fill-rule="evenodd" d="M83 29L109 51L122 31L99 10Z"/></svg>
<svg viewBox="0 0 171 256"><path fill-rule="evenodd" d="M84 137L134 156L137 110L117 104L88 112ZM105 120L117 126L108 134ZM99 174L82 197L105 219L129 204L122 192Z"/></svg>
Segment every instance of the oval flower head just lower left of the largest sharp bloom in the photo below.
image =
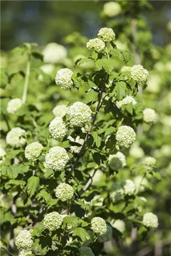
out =
<svg viewBox="0 0 171 256"><path fill-rule="evenodd" d="M49 132L56 140L63 139L67 133L66 125L64 124L62 117L54 118L49 124Z"/></svg>

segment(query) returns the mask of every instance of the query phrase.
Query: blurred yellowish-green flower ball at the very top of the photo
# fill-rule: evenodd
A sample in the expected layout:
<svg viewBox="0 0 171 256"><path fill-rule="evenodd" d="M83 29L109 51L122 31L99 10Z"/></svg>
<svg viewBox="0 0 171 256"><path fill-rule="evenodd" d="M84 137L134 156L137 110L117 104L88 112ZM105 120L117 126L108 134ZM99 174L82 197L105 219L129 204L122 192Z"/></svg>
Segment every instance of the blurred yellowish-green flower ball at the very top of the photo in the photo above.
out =
<svg viewBox="0 0 171 256"><path fill-rule="evenodd" d="M104 14L109 17L115 17L121 12L120 4L111 1L104 4Z"/></svg>

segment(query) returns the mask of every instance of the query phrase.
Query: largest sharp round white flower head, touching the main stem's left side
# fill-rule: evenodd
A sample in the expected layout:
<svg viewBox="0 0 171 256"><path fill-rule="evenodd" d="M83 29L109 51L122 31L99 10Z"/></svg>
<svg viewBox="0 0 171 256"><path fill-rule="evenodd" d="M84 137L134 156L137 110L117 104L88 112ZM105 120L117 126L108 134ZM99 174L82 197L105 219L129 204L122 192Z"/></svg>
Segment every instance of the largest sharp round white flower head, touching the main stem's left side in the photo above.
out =
<svg viewBox="0 0 171 256"><path fill-rule="evenodd" d="M90 121L92 111L89 106L78 101L68 108L67 114L72 126L82 127Z"/></svg>

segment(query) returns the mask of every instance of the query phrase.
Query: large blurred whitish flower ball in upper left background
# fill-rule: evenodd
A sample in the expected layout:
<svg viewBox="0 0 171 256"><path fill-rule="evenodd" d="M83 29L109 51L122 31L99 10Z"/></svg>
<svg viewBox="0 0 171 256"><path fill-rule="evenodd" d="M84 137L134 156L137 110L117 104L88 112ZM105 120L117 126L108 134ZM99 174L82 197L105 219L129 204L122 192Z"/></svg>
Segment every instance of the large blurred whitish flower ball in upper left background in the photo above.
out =
<svg viewBox="0 0 171 256"><path fill-rule="evenodd" d="M42 51L45 63L58 63L67 57L67 50L64 46L51 42Z"/></svg>

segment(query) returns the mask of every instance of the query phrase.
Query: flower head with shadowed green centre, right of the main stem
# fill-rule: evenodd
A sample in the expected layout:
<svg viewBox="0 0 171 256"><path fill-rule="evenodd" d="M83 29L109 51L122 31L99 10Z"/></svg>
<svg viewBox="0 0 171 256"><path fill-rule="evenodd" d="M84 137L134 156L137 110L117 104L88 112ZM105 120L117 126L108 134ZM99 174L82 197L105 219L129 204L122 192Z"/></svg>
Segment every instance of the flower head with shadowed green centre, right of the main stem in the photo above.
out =
<svg viewBox="0 0 171 256"><path fill-rule="evenodd" d="M112 170L119 170L126 165L126 158L122 152L117 152L115 155L109 155L109 166Z"/></svg>

